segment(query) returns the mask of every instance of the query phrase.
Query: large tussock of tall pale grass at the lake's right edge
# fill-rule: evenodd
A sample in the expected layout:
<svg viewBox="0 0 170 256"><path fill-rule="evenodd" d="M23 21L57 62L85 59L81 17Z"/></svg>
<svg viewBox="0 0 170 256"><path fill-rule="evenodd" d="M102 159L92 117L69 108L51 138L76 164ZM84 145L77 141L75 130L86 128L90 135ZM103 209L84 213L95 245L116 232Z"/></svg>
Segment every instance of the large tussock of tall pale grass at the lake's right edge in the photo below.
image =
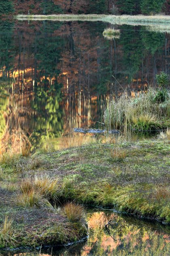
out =
<svg viewBox="0 0 170 256"><path fill-rule="evenodd" d="M165 91L165 90L164 90ZM134 92L132 96L123 93L108 103L104 111L104 123L108 130L120 129L124 133L131 129L156 130L164 128L170 118L170 92L166 90L160 98L161 89Z"/></svg>

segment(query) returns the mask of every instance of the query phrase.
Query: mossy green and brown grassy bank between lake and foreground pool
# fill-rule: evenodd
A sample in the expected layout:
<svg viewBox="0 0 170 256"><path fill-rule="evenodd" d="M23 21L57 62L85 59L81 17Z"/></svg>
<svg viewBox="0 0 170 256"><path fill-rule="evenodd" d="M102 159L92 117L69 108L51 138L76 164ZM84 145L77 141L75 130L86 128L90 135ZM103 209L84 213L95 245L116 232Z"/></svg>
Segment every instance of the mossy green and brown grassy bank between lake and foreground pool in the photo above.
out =
<svg viewBox="0 0 170 256"><path fill-rule="evenodd" d="M170 144L161 138L2 156L0 246L56 245L85 236L82 207L65 206L72 201L170 223Z"/></svg>

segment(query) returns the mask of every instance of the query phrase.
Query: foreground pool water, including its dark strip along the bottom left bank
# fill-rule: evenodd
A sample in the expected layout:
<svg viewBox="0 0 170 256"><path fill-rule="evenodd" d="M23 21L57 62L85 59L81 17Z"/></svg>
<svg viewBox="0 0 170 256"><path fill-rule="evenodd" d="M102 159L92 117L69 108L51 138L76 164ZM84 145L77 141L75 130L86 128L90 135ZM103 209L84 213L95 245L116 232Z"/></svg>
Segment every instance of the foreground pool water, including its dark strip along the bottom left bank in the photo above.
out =
<svg viewBox="0 0 170 256"><path fill-rule="evenodd" d="M170 252L170 226L144 221L129 215L119 215L110 210L87 212L88 238L72 245L42 248L29 251L21 249L3 252L3 256L168 256ZM105 225L110 221L108 230ZM1 254L0 254L1 255Z"/></svg>

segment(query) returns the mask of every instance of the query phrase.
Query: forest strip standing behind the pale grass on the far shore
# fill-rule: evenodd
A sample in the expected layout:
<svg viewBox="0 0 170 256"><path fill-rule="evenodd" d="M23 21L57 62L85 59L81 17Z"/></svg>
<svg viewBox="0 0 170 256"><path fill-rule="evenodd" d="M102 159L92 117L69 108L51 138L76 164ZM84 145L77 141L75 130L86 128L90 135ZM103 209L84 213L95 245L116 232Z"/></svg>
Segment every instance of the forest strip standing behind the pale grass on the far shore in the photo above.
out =
<svg viewBox="0 0 170 256"><path fill-rule="evenodd" d="M1 0L0 15L15 14L170 14L170 0Z"/></svg>

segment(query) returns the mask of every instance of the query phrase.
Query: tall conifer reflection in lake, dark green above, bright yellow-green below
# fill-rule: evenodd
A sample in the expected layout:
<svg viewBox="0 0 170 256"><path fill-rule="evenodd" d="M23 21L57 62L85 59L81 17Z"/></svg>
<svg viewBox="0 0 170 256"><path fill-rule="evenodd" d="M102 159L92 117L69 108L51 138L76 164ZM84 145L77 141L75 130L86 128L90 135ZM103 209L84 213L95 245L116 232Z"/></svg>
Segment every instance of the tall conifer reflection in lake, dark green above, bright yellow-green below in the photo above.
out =
<svg viewBox="0 0 170 256"><path fill-rule="evenodd" d="M57 82L63 40L49 33L50 25L50 23L44 24L43 36L36 37L35 42L35 59L39 74L37 74L35 99L32 103L32 108L36 110L33 144L34 142L38 144L47 138L59 137L63 130L63 111L60 106L62 85Z"/></svg>

